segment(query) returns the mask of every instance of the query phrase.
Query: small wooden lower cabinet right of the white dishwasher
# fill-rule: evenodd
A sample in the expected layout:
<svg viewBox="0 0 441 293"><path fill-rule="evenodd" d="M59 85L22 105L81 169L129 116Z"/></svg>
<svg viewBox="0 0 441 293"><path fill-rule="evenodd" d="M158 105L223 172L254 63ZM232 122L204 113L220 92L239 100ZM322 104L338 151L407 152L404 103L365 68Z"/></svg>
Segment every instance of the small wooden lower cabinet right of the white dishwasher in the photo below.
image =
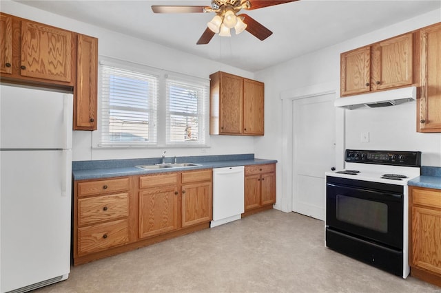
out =
<svg viewBox="0 0 441 293"><path fill-rule="evenodd" d="M245 166L245 213L270 209L276 202L276 164Z"/></svg>

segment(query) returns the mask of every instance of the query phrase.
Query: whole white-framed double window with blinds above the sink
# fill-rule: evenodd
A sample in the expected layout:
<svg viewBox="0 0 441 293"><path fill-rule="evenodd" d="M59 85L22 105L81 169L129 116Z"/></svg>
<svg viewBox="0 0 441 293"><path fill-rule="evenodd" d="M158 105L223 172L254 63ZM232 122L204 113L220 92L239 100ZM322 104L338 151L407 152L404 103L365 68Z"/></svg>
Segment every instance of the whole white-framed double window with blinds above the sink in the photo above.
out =
<svg viewBox="0 0 441 293"><path fill-rule="evenodd" d="M110 58L100 69L96 146L206 144L208 79Z"/></svg>

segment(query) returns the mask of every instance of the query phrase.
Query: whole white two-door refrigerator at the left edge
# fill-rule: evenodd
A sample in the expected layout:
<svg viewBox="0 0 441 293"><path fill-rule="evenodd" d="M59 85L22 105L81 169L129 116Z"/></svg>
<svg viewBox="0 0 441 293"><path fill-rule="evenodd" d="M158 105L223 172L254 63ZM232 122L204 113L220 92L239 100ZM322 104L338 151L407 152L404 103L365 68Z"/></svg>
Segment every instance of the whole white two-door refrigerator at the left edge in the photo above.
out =
<svg viewBox="0 0 441 293"><path fill-rule="evenodd" d="M68 278L72 94L0 85L0 291Z"/></svg>

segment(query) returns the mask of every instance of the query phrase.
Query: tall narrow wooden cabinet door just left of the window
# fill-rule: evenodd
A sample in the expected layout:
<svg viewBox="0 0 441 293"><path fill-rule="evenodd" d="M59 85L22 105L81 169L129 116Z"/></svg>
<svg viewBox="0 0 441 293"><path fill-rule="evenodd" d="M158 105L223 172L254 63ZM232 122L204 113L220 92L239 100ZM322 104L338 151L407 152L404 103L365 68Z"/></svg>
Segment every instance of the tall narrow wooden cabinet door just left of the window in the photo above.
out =
<svg viewBox="0 0 441 293"><path fill-rule="evenodd" d="M78 35L74 129L96 129L98 39Z"/></svg>

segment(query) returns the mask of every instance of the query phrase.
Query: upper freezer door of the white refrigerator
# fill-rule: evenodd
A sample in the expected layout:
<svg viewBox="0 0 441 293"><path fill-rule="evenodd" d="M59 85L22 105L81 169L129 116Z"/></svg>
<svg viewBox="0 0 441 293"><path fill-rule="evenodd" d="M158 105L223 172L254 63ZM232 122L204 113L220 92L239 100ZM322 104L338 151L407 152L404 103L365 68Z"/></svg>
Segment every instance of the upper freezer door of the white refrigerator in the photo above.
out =
<svg viewBox="0 0 441 293"><path fill-rule="evenodd" d="M72 94L0 85L0 149L71 149Z"/></svg>

